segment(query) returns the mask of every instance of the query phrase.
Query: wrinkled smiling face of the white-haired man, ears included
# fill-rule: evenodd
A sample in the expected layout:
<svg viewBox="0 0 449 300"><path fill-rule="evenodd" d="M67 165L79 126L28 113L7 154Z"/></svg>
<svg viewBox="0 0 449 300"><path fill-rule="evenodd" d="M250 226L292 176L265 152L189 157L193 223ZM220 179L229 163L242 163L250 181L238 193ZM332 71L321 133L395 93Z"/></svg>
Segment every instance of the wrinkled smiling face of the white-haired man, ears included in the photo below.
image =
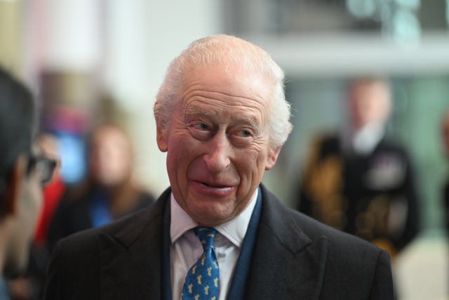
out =
<svg viewBox="0 0 449 300"><path fill-rule="evenodd" d="M189 72L168 129L158 128L173 195L203 226L217 226L245 209L280 150L269 147L272 83L223 70Z"/></svg>

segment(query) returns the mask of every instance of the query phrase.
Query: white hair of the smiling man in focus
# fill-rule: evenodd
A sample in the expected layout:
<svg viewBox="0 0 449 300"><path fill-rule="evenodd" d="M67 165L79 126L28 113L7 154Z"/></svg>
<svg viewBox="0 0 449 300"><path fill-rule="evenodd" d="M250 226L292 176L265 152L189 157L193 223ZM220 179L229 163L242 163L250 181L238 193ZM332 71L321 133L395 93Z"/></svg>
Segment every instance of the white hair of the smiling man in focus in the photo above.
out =
<svg viewBox="0 0 449 300"><path fill-rule="evenodd" d="M277 148L286 142L292 129L290 103L283 89L284 74L267 52L248 41L226 34L217 34L198 39L175 58L156 96L154 117L162 130L173 112L178 97L182 94L183 81L188 70L201 65L225 65L227 69L239 67L248 74L260 74L273 81L271 115L269 116L270 145Z"/></svg>

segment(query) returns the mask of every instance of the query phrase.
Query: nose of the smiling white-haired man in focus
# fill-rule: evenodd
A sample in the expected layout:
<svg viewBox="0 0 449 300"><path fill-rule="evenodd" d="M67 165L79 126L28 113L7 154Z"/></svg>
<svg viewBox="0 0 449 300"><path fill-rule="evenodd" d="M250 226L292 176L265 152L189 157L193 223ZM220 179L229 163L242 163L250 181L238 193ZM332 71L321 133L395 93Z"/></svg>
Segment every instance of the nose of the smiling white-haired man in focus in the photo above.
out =
<svg viewBox="0 0 449 300"><path fill-rule="evenodd" d="M229 143L226 133L217 132L207 143L207 150L203 159L209 171L219 173L229 167L232 145Z"/></svg>

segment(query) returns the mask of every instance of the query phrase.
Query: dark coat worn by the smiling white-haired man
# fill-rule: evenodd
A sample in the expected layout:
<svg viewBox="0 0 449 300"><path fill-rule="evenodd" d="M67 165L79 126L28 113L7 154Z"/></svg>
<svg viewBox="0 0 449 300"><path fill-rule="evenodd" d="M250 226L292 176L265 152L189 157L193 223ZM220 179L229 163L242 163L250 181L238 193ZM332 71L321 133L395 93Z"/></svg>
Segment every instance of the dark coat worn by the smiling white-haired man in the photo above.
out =
<svg viewBox="0 0 449 300"><path fill-rule="evenodd" d="M393 299L389 256L262 188L244 299ZM166 190L153 207L58 243L44 299L161 299Z"/></svg>

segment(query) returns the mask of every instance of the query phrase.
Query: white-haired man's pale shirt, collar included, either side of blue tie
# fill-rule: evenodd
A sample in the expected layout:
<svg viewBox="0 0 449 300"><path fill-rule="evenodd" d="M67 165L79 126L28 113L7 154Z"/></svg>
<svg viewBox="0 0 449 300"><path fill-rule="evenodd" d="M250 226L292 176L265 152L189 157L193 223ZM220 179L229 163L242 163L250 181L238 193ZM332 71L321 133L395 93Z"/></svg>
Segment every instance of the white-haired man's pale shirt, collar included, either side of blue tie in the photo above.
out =
<svg viewBox="0 0 449 300"><path fill-rule="evenodd" d="M250 203L241 214L231 221L215 227L215 252L220 268L220 296L225 300L229 293L234 270L239 259L241 245L245 237L251 214L257 200L258 188ZM173 193L170 197L170 271L172 298L181 299L182 287L189 269L203 254L203 246L194 234L193 228L198 226L190 216L177 204Z"/></svg>

